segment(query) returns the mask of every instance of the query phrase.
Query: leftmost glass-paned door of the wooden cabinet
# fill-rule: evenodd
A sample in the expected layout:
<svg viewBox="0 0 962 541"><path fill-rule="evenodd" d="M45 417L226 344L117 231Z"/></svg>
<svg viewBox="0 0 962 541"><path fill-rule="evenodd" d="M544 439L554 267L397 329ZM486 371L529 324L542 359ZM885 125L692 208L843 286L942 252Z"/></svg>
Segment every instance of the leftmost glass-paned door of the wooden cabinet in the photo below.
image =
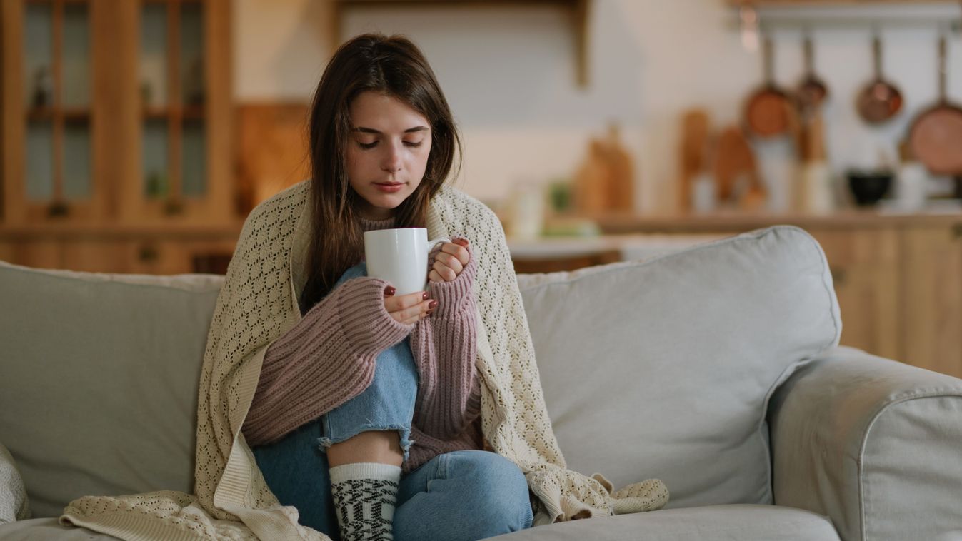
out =
<svg viewBox="0 0 962 541"><path fill-rule="evenodd" d="M103 2L2 3L3 217L7 223L104 215L111 106Z"/></svg>

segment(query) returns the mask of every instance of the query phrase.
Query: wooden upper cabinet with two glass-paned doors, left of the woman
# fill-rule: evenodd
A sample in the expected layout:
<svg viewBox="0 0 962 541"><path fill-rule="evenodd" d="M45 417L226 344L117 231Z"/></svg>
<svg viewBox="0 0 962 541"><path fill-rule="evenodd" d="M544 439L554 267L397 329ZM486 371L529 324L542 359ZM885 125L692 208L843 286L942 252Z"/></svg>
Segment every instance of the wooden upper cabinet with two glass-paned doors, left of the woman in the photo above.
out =
<svg viewBox="0 0 962 541"><path fill-rule="evenodd" d="M229 0L5 0L2 224L225 224Z"/></svg>

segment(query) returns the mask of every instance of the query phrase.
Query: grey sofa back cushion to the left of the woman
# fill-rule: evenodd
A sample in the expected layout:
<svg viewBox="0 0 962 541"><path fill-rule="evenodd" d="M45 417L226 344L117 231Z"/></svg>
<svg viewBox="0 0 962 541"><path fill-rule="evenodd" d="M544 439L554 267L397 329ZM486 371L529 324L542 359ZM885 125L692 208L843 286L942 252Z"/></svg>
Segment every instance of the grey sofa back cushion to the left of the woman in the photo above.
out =
<svg viewBox="0 0 962 541"><path fill-rule="evenodd" d="M35 517L85 495L193 492L198 377L222 282L0 262L0 434Z"/></svg>

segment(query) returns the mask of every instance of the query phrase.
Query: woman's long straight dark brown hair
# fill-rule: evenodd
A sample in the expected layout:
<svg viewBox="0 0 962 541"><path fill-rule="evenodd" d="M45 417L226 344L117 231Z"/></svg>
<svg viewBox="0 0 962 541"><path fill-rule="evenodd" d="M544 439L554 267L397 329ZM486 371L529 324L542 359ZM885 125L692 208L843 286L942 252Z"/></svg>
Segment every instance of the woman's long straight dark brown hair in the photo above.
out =
<svg viewBox="0 0 962 541"><path fill-rule="evenodd" d="M309 118L313 209L308 279L301 307L313 307L363 254L360 196L348 183L351 101L365 91L392 96L431 124L431 152L418 188L394 213L395 227L424 227L431 198L447 179L461 138L431 66L409 39L364 34L344 42L317 84Z"/></svg>

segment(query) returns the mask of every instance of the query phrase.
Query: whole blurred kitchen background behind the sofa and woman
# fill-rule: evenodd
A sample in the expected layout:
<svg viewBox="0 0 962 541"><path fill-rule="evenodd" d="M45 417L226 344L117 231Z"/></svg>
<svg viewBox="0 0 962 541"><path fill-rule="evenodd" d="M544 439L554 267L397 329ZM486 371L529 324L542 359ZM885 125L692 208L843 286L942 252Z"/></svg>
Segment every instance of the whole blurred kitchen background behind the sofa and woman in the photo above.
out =
<svg viewBox="0 0 962 541"><path fill-rule="evenodd" d="M519 272L794 224L823 244L844 344L962 377L960 2L0 5L0 259L224 272L247 212L307 177L334 48L401 33Z"/></svg>

